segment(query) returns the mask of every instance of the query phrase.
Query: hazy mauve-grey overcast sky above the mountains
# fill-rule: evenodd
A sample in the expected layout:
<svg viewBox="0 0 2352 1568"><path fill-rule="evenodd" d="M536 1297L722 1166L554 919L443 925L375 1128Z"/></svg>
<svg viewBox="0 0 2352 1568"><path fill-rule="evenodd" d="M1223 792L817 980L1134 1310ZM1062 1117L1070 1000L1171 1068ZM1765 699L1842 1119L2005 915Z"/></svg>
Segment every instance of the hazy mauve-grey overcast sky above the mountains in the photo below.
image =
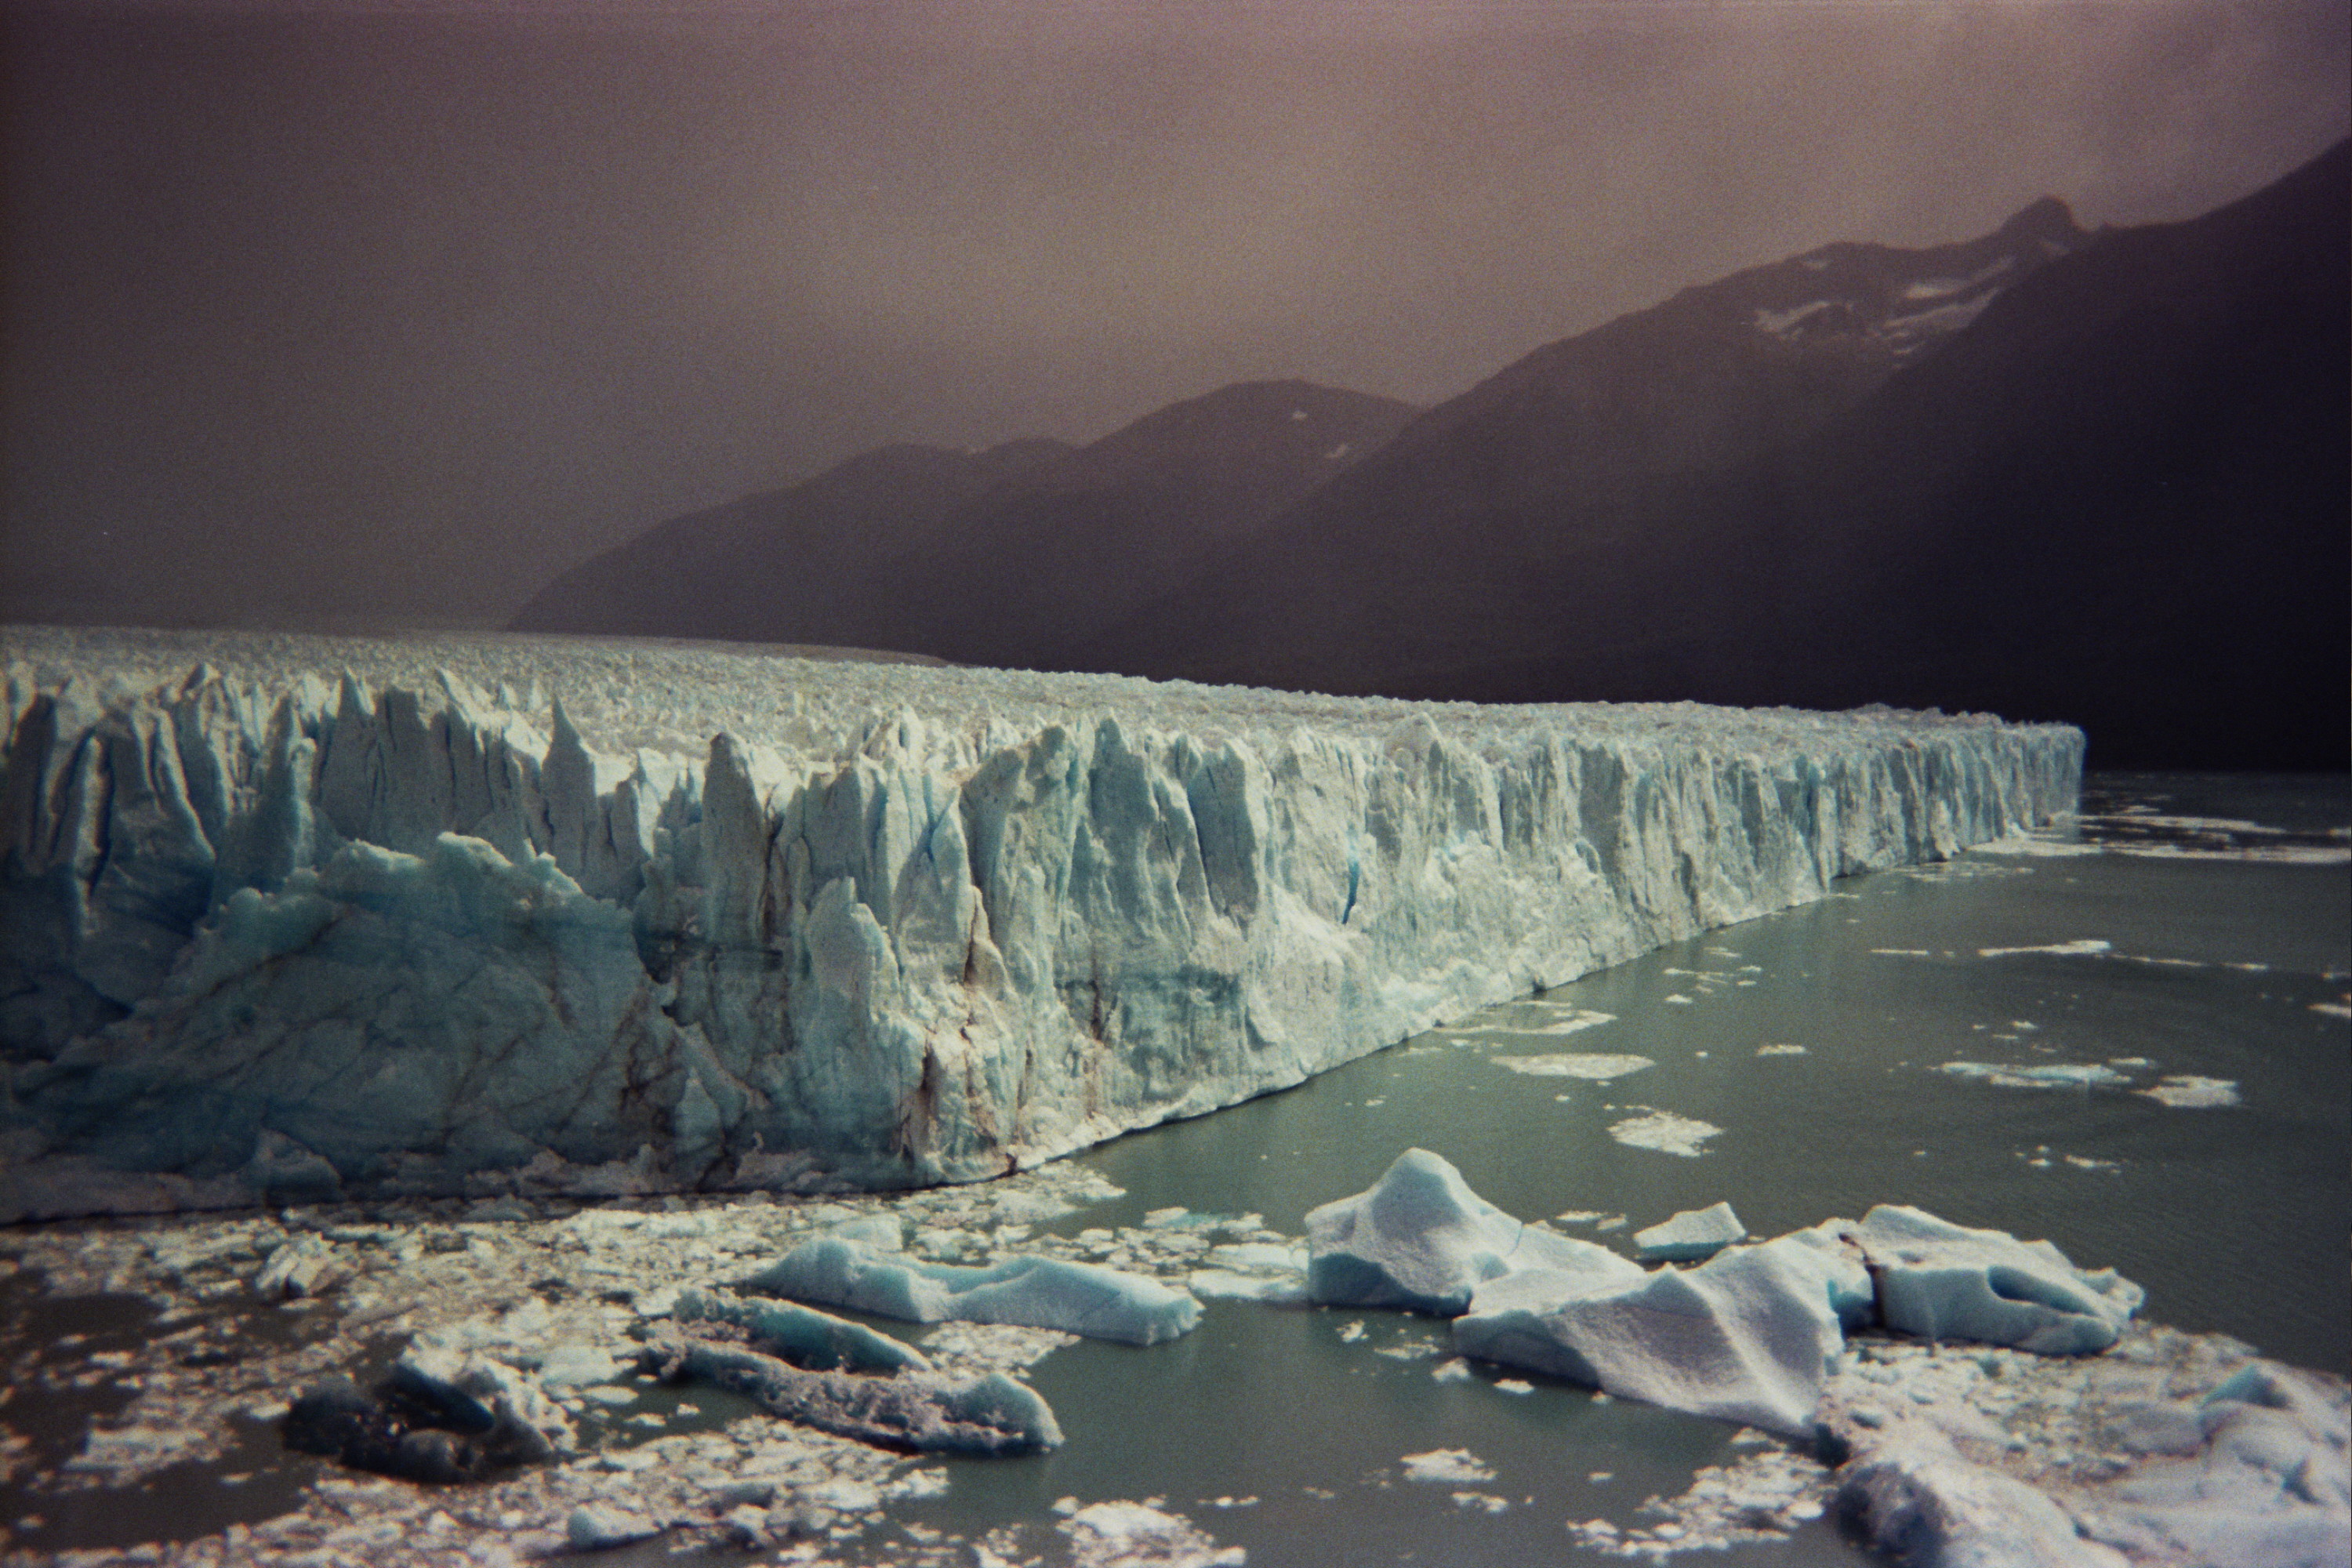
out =
<svg viewBox="0 0 2352 1568"><path fill-rule="evenodd" d="M2352 0L75 0L0 71L0 618L360 630L884 442L2187 219L2345 136Z"/></svg>

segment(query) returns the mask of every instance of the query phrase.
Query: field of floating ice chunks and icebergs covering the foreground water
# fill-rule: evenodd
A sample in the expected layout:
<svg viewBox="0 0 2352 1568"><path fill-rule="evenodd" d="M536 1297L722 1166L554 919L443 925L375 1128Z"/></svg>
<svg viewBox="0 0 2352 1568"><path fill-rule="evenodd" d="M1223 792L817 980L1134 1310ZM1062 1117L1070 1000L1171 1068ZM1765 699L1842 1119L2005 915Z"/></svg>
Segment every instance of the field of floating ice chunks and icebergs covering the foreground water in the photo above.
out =
<svg viewBox="0 0 2352 1568"><path fill-rule="evenodd" d="M1432 1389L1477 1363L1740 1427L1731 1462L1653 1497L1642 1523L1566 1521L1604 1556L1785 1542L1835 1512L1912 1563L2279 1568L2340 1563L2352 1528L2340 1378L2140 1324L2138 1286L2046 1241L1903 1206L1750 1239L1715 1204L1639 1232L1635 1260L1517 1220L1428 1150L1310 1211L1303 1239L1188 1211L1040 1229L1117 1197L1056 1164L849 1201L487 1199L454 1220L292 1208L35 1229L19 1267L68 1295L153 1298L167 1316L134 1333L172 1349L136 1356L136 1396L64 1460L47 1507L282 1441L341 1469L263 1523L179 1530L136 1561L513 1566L649 1544L809 1566L1237 1566L1240 1547L1164 1497L1070 1497L1051 1523L976 1540L913 1521L870 1535L946 1495L946 1455L1087 1441L1028 1382L1047 1354L1077 1335L1171 1354L1197 1298L1240 1295L1435 1331L1442 1345L1406 1352L1362 1319L1338 1326L1369 1356L1435 1356ZM830 1312L856 1293L844 1281L903 1335ZM985 1295L1004 1284L1018 1288ZM249 1291L310 1333L202 1312ZM362 1385L386 1331L397 1349ZM47 1366L35 1354L16 1378L40 1387ZM12 1458L54 1455L19 1439ZM1395 1467L1458 1509L1515 1507L1472 1448ZM14 1521L38 1537L31 1523Z"/></svg>

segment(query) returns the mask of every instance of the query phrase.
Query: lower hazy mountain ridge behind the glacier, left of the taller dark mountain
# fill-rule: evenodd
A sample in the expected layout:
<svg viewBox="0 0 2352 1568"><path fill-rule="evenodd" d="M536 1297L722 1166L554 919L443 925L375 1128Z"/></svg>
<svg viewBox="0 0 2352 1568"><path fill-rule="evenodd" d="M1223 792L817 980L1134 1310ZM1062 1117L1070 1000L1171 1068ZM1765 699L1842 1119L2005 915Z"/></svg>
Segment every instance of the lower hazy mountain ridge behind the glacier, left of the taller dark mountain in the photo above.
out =
<svg viewBox="0 0 2352 1568"><path fill-rule="evenodd" d="M515 630L835 642L1042 668L1388 442L1411 404L1256 381L1089 447L884 447L666 522Z"/></svg>

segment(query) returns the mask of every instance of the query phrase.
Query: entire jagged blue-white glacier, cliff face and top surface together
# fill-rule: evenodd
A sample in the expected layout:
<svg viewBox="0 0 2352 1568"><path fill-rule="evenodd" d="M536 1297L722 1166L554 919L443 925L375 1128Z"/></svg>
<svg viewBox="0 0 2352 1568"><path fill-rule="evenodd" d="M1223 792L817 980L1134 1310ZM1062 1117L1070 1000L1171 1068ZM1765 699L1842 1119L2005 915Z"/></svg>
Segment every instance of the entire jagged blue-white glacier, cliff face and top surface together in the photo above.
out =
<svg viewBox="0 0 2352 1568"><path fill-rule="evenodd" d="M513 637L5 654L19 1215L983 1178L2004 837L2082 769L2072 729L1884 710Z"/></svg>

